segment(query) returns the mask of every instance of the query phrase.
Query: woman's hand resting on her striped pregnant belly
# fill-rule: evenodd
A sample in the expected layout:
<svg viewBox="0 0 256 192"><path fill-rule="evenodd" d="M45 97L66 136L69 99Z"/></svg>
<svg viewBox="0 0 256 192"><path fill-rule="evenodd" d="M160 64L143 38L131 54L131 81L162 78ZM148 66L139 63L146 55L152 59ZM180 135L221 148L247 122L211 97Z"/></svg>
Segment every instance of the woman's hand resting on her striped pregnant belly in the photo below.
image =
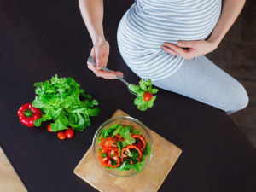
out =
<svg viewBox="0 0 256 192"><path fill-rule="evenodd" d="M205 40L201 41L178 41L177 45L165 43L165 46L161 48L169 54L176 55L178 57L183 57L186 60L192 59L196 56L205 55L212 52L217 48L215 44L207 42ZM183 49L187 48L187 49Z"/></svg>

